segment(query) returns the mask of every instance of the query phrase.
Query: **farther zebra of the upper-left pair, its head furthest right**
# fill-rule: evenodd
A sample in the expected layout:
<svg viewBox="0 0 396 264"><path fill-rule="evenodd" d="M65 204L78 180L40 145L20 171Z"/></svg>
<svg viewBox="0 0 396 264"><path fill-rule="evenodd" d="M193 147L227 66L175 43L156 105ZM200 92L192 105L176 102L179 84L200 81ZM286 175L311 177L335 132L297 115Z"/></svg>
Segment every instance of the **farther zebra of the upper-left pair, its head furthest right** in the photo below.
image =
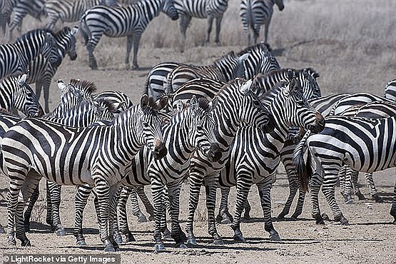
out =
<svg viewBox="0 0 396 264"><path fill-rule="evenodd" d="M77 59L75 37L77 31L77 26L74 26L73 29L65 26L54 34L59 57L57 64L61 64L66 54L68 54L71 61ZM59 65L51 64L49 60L42 55L36 56L36 59L29 64L28 83L36 83L36 96L38 98L41 96L41 89L44 90L44 109L46 113L49 113L49 86L58 67Z"/></svg>

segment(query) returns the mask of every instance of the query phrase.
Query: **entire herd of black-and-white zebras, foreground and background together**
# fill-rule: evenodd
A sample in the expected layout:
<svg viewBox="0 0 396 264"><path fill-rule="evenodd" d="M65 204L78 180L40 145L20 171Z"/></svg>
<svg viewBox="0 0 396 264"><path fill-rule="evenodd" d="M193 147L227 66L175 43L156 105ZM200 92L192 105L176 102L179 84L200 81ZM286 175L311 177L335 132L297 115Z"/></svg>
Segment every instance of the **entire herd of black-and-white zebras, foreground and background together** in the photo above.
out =
<svg viewBox="0 0 396 264"><path fill-rule="evenodd" d="M0 173L9 178L6 233L11 245L16 245L16 239L31 245L26 232L41 178L47 183L46 222L57 235L66 234L59 213L61 186L76 186L73 235L77 245L86 245L83 210L93 193L104 250L119 250L122 235L127 241L135 240L126 220L126 199L133 192L136 215L141 215L138 193L154 221L155 249L163 250L163 238L168 235L178 248L198 244L193 223L201 186L205 186L213 243L224 243L216 222L230 223L233 239L245 242L240 222L243 216L250 217L248 193L253 184L258 188L265 231L270 240L281 240L273 226L270 196L280 162L288 174L290 196L278 219L288 215L299 191L292 215L297 219L309 190L313 218L324 224L318 203L322 188L333 218L342 225L349 222L335 201L338 174L349 203L351 188L358 192L354 183L359 171L396 166L395 79L385 86L384 97L370 93L322 97L319 74L313 68L281 68L263 42L230 51L205 66L163 61L148 72L137 105L121 91L95 94L92 81L72 79L66 84L59 80L59 105L50 111L51 79L66 54L76 59L78 31L86 41L91 68L98 68L93 51L103 34L126 36L125 63L129 65L133 46L132 64L138 68L141 35L161 11L180 20L184 38L192 17L208 18L209 41L216 20L218 43L227 0L141 0L126 6L114 0L2 0L0 4L2 29L14 11L10 39L26 14L49 17L46 29L29 31L0 46ZM261 24L265 24L267 41L274 4L284 8L281 0L241 1L240 16L246 31L249 26L253 29L254 42ZM79 24L54 32L59 19ZM29 83L36 83L36 93ZM38 101L41 88L44 109ZM12 114L16 111L26 117ZM367 179L375 188L372 177ZM179 197L186 181L185 233L179 221ZM143 186L151 187L152 205ZM235 212L230 215L228 193L233 186ZM222 197L216 217L218 188ZM372 197L381 201L378 193ZM396 186L390 214L396 223ZM167 215L171 230L166 226Z"/></svg>

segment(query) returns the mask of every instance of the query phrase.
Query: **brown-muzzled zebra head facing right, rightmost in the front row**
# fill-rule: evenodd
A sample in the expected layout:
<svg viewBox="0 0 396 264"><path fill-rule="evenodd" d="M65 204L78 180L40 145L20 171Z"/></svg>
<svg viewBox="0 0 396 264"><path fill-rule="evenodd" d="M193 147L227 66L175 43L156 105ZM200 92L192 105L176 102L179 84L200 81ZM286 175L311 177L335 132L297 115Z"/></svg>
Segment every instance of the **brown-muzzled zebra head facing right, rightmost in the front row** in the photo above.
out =
<svg viewBox="0 0 396 264"><path fill-rule="evenodd" d="M285 138L290 126L298 126L313 133L319 133L325 128L325 118L310 106L295 78L281 81L260 99L269 105L277 131Z"/></svg>

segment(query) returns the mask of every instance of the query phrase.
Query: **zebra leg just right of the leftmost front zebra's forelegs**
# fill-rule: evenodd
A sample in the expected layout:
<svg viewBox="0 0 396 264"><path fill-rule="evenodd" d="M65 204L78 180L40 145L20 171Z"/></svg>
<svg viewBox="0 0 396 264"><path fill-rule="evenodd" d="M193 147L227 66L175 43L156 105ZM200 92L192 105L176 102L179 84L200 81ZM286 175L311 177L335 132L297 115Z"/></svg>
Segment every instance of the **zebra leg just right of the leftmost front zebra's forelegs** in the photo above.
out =
<svg viewBox="0 0 396 264"><path fill-rule="evenodd" d="M128 201L131 188L123 186L118 196L117 211L118 211L118 228L120 232L126 236L126 242L136 241L131 230L128 227L128 215L126 213L126 202ZM133 205L132 205L133 208Z"/></svg>

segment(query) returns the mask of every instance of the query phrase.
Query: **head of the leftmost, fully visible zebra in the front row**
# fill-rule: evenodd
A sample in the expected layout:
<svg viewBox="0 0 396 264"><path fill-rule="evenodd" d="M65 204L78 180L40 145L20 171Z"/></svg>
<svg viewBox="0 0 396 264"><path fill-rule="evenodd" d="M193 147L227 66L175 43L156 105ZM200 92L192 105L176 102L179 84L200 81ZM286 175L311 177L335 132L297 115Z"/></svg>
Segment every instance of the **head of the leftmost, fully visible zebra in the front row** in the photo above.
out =
<svg viewBox="0 0 396 264"><path fill-rule="evenodd" d="M154 102L153 98L148 98L145 94L141 97L139 104L138 118L134 119L136 124L136 136L144 145L148 147L156 159L163 158L168 153L163 143L162 126L163 118L158 111L168 104L166 96Z"/></svg>

